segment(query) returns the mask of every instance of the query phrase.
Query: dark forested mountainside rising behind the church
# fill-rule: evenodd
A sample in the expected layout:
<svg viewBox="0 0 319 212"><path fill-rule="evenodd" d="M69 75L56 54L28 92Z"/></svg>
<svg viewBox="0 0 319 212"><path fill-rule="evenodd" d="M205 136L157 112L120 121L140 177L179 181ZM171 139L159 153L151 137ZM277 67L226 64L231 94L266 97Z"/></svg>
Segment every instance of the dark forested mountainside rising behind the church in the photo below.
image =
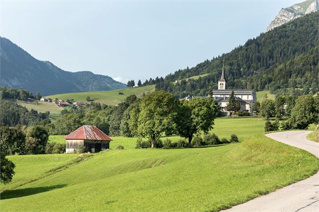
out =
<svg viewBox="0 0 319 212"><path fill-rule="evenodd" d="M318 92L318 14L293 20L261 33L230 53L178 70L164 79L147 80L143 85L156 84L156 90L172 92L178 98L207 95L209 90L217 89L225 60L230 89L270 90L277 95L314 94ZM201 74L208 75L182 80ZM182 81L175 83L176 80Z"/></svg>

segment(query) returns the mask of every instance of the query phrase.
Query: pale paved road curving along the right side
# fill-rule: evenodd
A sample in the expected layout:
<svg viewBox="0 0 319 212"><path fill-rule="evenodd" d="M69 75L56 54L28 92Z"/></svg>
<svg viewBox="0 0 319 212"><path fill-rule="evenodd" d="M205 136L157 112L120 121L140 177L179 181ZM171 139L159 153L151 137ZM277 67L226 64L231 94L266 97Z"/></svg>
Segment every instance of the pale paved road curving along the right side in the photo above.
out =
<svg viewBox="0 0 319 212"><path fill-rule="evenodd" d="M269 138L304 149L319 158L319 143L305 137L311 131L266 134ZM282 173L284 174L284 173ZM316 211L319 212L319 172L267 195L257 197L225 211Z"/></svg>

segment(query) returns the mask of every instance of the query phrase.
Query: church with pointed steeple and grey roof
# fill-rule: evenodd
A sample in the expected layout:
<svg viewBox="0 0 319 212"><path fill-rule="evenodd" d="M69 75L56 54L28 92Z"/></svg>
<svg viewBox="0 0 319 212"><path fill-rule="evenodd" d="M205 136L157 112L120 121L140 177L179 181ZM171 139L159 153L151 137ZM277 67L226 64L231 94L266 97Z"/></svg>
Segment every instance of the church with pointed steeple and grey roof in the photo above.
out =
<svg viewBox="0 0 319 212"><path fill-rule="evenodd" d="M212 97L214 97L221 106L221 112L227 112L226 106L232 89L227 89L227 82L225 80L225 66L223 64L222 77L218 81L218 89L212 90ZM253 114L253 104L256 102L256 92L253 89L234 89L235 99L239 101L242 111L248 111Z"/></svg>

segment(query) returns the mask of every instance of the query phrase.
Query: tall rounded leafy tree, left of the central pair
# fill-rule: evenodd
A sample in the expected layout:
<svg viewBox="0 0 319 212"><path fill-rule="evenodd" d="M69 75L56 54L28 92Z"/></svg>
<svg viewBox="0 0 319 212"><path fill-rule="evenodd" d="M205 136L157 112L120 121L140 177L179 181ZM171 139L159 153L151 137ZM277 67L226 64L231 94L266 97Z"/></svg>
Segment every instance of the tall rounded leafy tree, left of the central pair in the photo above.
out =
<svg viewBox="0 0 319 212"><path fill-rule="evenodd" d="M155 91L143 97L140 104L138 133L152 140L152 148L162 133L175 130L176 100L171 93Z"/></svg>

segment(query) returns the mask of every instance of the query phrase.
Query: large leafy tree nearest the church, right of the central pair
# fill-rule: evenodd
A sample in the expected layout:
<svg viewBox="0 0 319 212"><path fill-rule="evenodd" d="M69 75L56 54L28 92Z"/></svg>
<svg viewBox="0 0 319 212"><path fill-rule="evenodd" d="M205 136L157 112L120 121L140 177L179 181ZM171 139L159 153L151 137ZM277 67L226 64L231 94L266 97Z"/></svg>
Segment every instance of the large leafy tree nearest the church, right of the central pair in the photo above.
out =
<svg viewBox="0 0 319 212"><path fill-rule="evenodd" d="M190 146L194 134L212 129L219 111L220 106L212 98L180 100L175 119L178 134L187 138Z"/></svg>

